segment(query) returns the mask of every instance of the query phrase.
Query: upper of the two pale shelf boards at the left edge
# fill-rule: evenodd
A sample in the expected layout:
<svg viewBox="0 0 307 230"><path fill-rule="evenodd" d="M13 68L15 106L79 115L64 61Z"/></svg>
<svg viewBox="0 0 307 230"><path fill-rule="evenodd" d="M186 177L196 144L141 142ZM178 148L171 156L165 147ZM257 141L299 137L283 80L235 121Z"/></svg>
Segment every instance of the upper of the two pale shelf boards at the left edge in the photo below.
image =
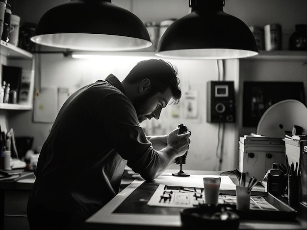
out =
<svg viewBox="0 0 307 230"><path fill-rule="evenodd" d="M5 56L8 59L32 59L33 54L21 49L17 46L14 46L10 43L6 43L1 40L1 56Z"/></svg>

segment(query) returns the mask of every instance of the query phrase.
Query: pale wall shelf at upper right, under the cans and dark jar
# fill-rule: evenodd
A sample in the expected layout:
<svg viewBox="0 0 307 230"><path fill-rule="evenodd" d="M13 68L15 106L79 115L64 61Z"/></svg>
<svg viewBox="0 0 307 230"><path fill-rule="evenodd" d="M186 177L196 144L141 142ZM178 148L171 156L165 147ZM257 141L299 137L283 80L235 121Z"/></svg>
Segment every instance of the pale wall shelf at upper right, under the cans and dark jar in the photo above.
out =
<svg viewBox="0 0 307 230"><path fill-rule="evenodd" d="M307 59L307 51L294 51L294 50L272 50L264 51L259 50L259 55L245 58L244 61L253 60L287 60L287 61L305 61Z"/></svg>

